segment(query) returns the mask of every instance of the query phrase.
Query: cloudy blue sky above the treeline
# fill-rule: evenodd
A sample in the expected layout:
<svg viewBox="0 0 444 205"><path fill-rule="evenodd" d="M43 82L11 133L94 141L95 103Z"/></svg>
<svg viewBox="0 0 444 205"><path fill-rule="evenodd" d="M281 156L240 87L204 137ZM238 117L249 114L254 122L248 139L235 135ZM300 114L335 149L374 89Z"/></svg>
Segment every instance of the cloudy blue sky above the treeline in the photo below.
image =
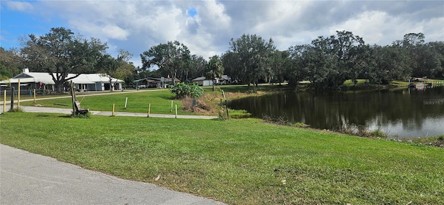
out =
<svg viewBox="0 0 444 205"><path fill-rule="evenodd" d="M444 41L444 1L3 1L0 46L65 27L85 38L139 54L178 40L191 54L223 54L231 38L257 34L278 49L309 44L319 35L352 31L366 44L391 44L406 33Z"/></svg>

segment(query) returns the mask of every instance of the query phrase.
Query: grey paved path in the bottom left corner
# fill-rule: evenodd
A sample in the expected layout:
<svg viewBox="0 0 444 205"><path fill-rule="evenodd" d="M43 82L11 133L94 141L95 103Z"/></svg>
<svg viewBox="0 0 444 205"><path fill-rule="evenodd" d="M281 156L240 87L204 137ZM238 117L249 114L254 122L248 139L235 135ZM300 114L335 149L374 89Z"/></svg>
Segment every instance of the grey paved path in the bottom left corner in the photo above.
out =
<svg viewBox="0 0 444 205"><path fill-rule="evenodd" d="M0 204L223 204L0 144Z"/></svg>

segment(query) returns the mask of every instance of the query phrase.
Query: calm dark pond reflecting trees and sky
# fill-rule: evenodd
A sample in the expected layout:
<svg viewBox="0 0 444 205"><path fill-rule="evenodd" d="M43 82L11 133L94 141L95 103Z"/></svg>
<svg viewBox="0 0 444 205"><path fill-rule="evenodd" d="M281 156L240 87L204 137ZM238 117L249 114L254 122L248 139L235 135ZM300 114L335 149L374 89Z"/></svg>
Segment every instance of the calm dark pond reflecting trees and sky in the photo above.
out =
<svg viewBox="0 0 444 205"><path fill-rule="evenodd" d="M253 117L284 116L317 129L337 130L342 124L380 128L389 136L424 137L444 134L444 87L364 92L280 92L229 102Z"/></svg>

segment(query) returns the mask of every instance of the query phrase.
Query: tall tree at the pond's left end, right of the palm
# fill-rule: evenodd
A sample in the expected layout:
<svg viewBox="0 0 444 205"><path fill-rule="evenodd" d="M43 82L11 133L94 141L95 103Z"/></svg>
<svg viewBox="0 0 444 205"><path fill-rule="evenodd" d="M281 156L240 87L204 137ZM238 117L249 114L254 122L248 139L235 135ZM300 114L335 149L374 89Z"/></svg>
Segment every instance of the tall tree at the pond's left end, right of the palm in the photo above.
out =
<svg viewBox="0 0 444 205"><path fill-rule="evenodd" d="M275 50L273 40L270 38L268 42L258 35L241 35L237 40L230 40L230 49L236 55L235 61L239 63L239 77L245 83L253 83L256 88L257 81L265 76L266 59Z"/></svg>

